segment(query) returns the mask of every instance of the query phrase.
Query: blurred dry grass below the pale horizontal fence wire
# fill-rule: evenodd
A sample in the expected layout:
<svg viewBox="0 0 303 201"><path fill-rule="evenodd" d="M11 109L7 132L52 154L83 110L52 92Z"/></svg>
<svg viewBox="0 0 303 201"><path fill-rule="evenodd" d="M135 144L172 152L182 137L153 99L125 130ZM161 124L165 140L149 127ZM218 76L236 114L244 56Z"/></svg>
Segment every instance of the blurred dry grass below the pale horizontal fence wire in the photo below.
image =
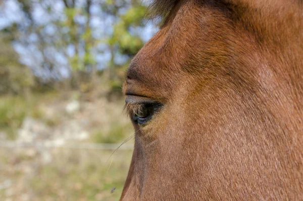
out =
<svg viewBox="0 0 303 201"><path fill-rule="evenodd" d="M0 200L118 200L131 159L131 150L54 149L42 164L30 151L0 149ZM0 184L1 185L1 184ZM116 189L112 193L112 188Z"/></svg>

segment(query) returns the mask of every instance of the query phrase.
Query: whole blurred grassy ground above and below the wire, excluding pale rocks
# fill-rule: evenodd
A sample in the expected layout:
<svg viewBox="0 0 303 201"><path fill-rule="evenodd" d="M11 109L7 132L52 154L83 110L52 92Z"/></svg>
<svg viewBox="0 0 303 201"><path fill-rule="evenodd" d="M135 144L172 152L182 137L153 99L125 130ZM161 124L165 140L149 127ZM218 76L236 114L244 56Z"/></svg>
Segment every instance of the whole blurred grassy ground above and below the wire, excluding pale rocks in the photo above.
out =
<svg viewBox="0 0 303 201"><path fill-rule="evenodd" d="M53 92L33 95L30 101L18 96L0 97L0 135L2 132L4 137L0 140L18 140L26 117L37 120L51 133L56 131L57 137L61 135L58 131L64 134L69 125L81 125L88 137L77 143L121 143L133 133L122 112L123 99L82 101L81 109L70 114L65 107L71 97L73 93L62 97ZM110 157L113 151L0 146L0 200L118 200L132 150L121 149ZM111 192L113 187L116 189Z"/></svg>

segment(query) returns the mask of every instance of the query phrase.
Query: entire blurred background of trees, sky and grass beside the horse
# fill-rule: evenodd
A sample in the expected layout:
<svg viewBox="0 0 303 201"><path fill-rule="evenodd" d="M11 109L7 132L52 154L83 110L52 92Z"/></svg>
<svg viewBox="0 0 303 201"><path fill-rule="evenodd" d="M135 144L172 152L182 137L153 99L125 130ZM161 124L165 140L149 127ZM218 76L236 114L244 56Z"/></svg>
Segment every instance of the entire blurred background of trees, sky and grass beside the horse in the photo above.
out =
<svg viewBox="0 0 303 201"><path fill-rule="evenodd" d="M121 85L158 30L147 6L0 0L0 200L119 199L133 148Z"/></svg>

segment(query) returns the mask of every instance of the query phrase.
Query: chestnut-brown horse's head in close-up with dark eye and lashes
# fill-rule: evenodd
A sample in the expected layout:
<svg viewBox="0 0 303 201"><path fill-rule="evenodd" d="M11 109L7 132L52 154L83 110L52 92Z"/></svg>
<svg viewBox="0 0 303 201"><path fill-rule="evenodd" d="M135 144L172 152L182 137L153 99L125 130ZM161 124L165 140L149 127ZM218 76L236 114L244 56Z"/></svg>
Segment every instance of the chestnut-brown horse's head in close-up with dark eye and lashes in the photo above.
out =
<svg viewBox="0 0 303 201"><path fill-rule="evenodd" d="M120 200L303 199L303 2L154 0Z"/></svg>

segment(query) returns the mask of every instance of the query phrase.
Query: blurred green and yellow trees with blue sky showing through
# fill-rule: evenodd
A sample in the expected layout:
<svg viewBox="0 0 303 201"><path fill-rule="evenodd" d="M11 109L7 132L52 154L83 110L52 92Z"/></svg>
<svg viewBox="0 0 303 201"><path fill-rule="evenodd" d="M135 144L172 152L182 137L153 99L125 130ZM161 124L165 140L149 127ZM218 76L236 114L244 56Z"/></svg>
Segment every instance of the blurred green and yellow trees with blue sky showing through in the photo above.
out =
<svg viewBox="0 0 303 201"><path fill-rule="evenodd" d="M111 59L108 66L104 68L104 71L108 73L104 73L105 76L102 79L106 79L109 83L109 89L118 89L116 85L112 87L110 83L115 81L121 85L124 74L121 75L119 71L125 70L130 58L143 46L140 33L134 31L144 27L146 8L141 5L140 0L106 0L101 2L84 0L81 1L81 4L78 0L64 0L65 8L63 11L56 11L49 1L17 1L25 19L13 23L3 30L8 33L9 37L0 35L0 46L5 47L0 50L0 94L28 92L36 84L35 80L39 83L47 82L47 85L52 87L58 86L56 83L61 82L60 79L50 75L49 80L41 82L41 79L33 78L33 72L41 74L37 72L43 70L46 74L51 74L61 72L62 68L70 71L70 88L78 89L82 93L89 92L95 87L95 75L99 65L96 56L109 52ZM47 24L38 23L32 17L33 8L37 6L48 16L49 22ZM92 8L96 7L100 9L100 12L91 13ZM58 17L56 12L59 12L58 14L63 17ZM109 31L101 31L103 35L96 36L95 33L99 29L93 25L93 19L105 21L107 17L111 17L113 20L112 27L105 28ZM55 30L54 32L45 31L50 25ZM28 42L29 35L32 34L35 35L36 41ZM25 47L28 45L35 47L35 51L28 53L32 54L33 58L36 55L41 55L42 58L37 59L38 62L33 61L34 64L29 64L37 65L31 66L33 72L19 63L18 54L11 47L11 41ZM100 45L105 48L99 48ZM68 53L69 47L73 48L73 53ZM51 52L48 53L49 51ZM56 54L61 54L66 59L67 64L62 65L53 56ZM116 58L120 55L128 57L124 64L116 63ZM89 78L82 79L80 74L83 72L88 74ZM54 74L57 76L60 73ZM116 82L117 80L119 82Z"/></svg>

